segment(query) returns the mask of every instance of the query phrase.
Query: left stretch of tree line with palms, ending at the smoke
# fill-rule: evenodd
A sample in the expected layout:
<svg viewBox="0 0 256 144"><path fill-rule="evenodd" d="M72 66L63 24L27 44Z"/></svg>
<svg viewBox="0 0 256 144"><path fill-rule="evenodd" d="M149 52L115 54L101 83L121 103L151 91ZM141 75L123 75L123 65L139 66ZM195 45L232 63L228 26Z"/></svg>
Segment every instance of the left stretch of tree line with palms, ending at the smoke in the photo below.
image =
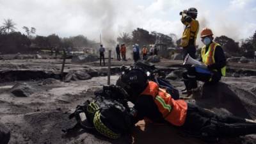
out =
<svg viewBox="0 0 256 144"><path fill-rule="evenodd" d="M15 22L12 19L4 19L3 25L0 26L0 52L17 53L38 51L40 49L65 49L68 47L92 47L95 41L89 40L86 36L77 35L68 38L61 38L56 34L49 36L35 35L36 28L23 26L24 33L16 31Z"/></svg>

